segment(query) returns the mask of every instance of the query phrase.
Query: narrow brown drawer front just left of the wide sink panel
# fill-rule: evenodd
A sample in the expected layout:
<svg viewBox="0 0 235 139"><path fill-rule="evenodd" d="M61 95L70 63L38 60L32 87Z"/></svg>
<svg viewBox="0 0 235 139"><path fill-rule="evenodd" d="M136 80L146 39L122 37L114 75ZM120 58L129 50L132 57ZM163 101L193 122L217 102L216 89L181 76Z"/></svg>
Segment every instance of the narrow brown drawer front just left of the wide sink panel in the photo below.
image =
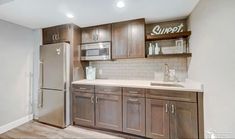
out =
<svg viewBox="0 0 235 139"><path fill-rule="evenodd" d="M124 96L145 97L145 89L142 88L123 88Z"/></svg>

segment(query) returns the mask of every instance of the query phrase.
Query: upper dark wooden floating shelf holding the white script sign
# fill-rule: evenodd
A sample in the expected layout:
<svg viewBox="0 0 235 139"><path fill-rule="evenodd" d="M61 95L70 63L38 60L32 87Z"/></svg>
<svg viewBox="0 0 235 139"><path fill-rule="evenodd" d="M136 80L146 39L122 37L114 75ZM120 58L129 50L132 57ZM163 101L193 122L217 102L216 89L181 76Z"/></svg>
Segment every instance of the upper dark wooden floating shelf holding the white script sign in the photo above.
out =
<svg viewBox="0 0 235 139"><path fill-rule="evenodd" d="M163 35L146 35L146 41L155 40L171 40L178 38L187 38L191 35L191 31L185 31L180 33L163 34Z"/></svg>

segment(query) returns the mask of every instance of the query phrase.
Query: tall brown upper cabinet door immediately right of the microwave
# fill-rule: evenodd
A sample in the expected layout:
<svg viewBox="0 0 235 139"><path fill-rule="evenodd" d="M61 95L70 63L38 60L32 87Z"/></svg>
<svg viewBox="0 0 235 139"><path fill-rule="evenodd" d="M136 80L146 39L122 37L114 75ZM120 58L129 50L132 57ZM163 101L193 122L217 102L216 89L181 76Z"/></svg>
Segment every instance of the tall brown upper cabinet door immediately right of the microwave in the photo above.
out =
<svg viewBox="0 0 235 139"><path fill-rule="evenodd" d="M112 25L112 58L128 57L128 22Z"/></svg>

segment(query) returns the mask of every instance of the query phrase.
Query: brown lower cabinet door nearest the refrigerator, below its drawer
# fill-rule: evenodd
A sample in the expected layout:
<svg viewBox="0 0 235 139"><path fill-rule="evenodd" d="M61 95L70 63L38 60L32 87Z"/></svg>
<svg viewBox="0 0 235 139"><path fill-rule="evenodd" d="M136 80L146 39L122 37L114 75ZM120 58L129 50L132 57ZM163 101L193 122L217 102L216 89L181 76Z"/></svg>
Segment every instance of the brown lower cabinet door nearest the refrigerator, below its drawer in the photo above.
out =
<svg viewBox="0 0 235 139"><path fill-rule="evenodd" d="M94 126L94 94L73 93L74 123L83 126Z"/></svg>

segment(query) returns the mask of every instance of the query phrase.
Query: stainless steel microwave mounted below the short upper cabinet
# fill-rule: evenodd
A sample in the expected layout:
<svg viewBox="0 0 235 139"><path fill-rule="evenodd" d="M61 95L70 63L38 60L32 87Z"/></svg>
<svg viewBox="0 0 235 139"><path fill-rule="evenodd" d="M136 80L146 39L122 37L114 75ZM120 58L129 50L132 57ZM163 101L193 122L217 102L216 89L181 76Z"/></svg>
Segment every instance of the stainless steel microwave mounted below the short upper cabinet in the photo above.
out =
<svg viewBox="0 0 235 139"><path fill-rule="evenodd" d="M111 60L111 42L83 44L81 60Z"/></svg>

